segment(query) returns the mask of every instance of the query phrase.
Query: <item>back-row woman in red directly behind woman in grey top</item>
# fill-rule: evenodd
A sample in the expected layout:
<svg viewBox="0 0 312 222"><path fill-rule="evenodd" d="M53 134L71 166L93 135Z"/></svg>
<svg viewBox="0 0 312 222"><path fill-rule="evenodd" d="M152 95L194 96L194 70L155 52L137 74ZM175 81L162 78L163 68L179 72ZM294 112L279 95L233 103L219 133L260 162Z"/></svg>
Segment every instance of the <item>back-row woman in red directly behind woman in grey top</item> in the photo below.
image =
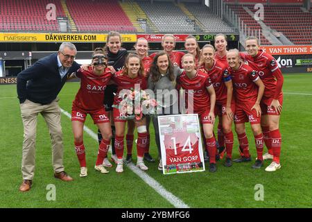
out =
<svg viewBox="0 0 312 222"><path fill-rule="evenodd" d="M174 51L175 49L175 36L172 34L166 34L162 38L162 48L168 54L171 62L174 66L182 68L181 59L184 56L182 51ZM157 53L150 55L150 58L154 58Z"/></svg>

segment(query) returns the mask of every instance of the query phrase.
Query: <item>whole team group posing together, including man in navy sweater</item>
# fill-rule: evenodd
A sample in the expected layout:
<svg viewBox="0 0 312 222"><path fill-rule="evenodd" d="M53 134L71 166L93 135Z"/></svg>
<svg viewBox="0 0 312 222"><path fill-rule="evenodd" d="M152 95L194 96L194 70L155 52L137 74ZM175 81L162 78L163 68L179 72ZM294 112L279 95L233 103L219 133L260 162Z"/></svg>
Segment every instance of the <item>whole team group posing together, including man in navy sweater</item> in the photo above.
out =
<svg viewBox="0 0 312 222"><path fill-rule="evenodd" d="M95 171L109 173L114 164L116 173L127 173L124 165L135 160L142 171L148 171L146 162L157 162L162 171L165 162L158 117L183 114L176 109L182 103L178 95L182 91L187 104L184 114L198 114L200 139L210 173L217 171L218 160L224 160L224 167L232 167L233 162L252 161L254 170L281 169L279 119L284 78L277 61L261 49L257 37L246 38L243 52L227 49L223 34L216 35L214 45L205 44L202 49L196 37L189 35L184 41L185 53L175 51L175 36L171 34L162 37L162 51L149 53L148 40L143 37L137 39L134 49L131 53L123 49L121 35L111 31L105 46L94 49L91 64L75 62L76 46L63 42L58 53L38 60L18 74L17 95L24 126L23 181L19 191L29 191L33 185L38 114L42 114L49 128L54 177L63 181L75 178L64 169L62 114L58 105L60 90L67 81L75 79L80 80L80 87L71 108L71 144L80 167L77 176L88 175L88 147L83 140L88 114L98 127ZM139 105L126 102L129 98L135 101L137 96L143 101ZM143 106L153 112L144 112ZM257 157L250 155L252 138L248 138L245 128L248 122ZM150 124L154 135L149 131ZM239 141L240 157L232 160L234 137ZM154 138L158 157L150 155L150 142ZM132 159L133 146L137 146L137 157ZM270 161L268 167L263 167L264 160Z"/></svg>

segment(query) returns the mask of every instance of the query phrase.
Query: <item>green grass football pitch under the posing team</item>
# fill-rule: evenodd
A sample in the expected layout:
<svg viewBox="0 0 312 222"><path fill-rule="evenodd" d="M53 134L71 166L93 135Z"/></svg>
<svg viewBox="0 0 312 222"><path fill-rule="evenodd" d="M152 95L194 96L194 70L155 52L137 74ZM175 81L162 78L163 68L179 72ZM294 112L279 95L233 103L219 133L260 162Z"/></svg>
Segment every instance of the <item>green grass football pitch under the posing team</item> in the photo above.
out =
<svg viewBox="0 0 312 222"><path fill-rule="evenodd" d="M73 148L71 121L62 115L64 166L73 182L53 178L51 142L44 119L37 123L36 169L31 191L21 193L21 146L23 126L16 85L0 86L0 207L311 207L312 206L312 74L284 76L284 105L281 169L266 172L251 168L257 156L254 139L247 126L252 162L227 168L217 162L218 171L164 176L157 162L146 163L146 173L125 167L121 174L115 165L108 174L94 171L98 144L85 133L87 178L79 177L79 164ZM67 83L59 94L60 107L71 112L78 83ZM97 132L90 117L86 126ZM215 126L216 128L216 126ZM150 126L150 153L157 157L153 126ZM239 157L234 133L233 158ZM133 148L136 152L136 148ZM266 148L264 149L266 151ZM134 153L136 159L136 154ZM135 160L136 161L136 160ZM206 164L206 169L209 164ZM53 187L55 200L51 200ZM170 195L167 195L170 194ZM262 195L263 194L263 195ZM262 195L262 196L261 196Z"/></svg>

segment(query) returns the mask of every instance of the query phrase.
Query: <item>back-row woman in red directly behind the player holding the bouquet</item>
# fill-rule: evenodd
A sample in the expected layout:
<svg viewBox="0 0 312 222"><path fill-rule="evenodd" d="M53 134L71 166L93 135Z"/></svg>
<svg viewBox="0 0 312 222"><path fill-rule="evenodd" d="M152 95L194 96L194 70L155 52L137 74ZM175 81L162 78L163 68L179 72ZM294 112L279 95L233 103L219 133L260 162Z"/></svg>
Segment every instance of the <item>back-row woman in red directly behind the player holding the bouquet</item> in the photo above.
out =
<svg viewBox="0 0 312 222"><path fill-rule="evenodd" d="M144 37L140 37L137 39L135 43L135 52L141 59L143 66L144 66L144 75L146 76L150 71L150 66L152 65L153 59L148 56L148 41ZM144 160L148 162L155 162L153 157L150 156L149 149L150 149L150 133L148 131L148 126L150 123L149 116L146 117L146 126L147 126L147 142L146 142L146 151L144 152ZM133 124L133 121L128 121L128 126ZM132 134L130 132L132 130ZM135 127L132 126L128 128L128 133L125 136L127 141L127 156L125 157L125 164L132 162L132 146L133 146L133 139L134 139L134 130Z"/></svg>

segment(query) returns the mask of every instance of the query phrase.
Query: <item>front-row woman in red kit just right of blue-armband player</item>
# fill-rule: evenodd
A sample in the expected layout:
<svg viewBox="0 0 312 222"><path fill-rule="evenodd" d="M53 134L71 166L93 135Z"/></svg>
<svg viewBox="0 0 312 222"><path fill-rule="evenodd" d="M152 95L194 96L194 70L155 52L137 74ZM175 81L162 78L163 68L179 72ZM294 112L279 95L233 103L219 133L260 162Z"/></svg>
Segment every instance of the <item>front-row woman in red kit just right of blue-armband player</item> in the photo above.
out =
<svg viewBox="0 0 312 222"><path fill-rule="evenodd" d="M251 160L248 138L245 134L245 122L250 122L254 142L257 148L257 160L253 169L260 169L263 165L263 135L261 130L260 101L264 92L264 85L254 69L241 62L239 51L231 49L227 52L229 74L232 78L235 96L235 131L239 137L239 144L243 149L243 157L234 162L249 162Z"/></svg>

